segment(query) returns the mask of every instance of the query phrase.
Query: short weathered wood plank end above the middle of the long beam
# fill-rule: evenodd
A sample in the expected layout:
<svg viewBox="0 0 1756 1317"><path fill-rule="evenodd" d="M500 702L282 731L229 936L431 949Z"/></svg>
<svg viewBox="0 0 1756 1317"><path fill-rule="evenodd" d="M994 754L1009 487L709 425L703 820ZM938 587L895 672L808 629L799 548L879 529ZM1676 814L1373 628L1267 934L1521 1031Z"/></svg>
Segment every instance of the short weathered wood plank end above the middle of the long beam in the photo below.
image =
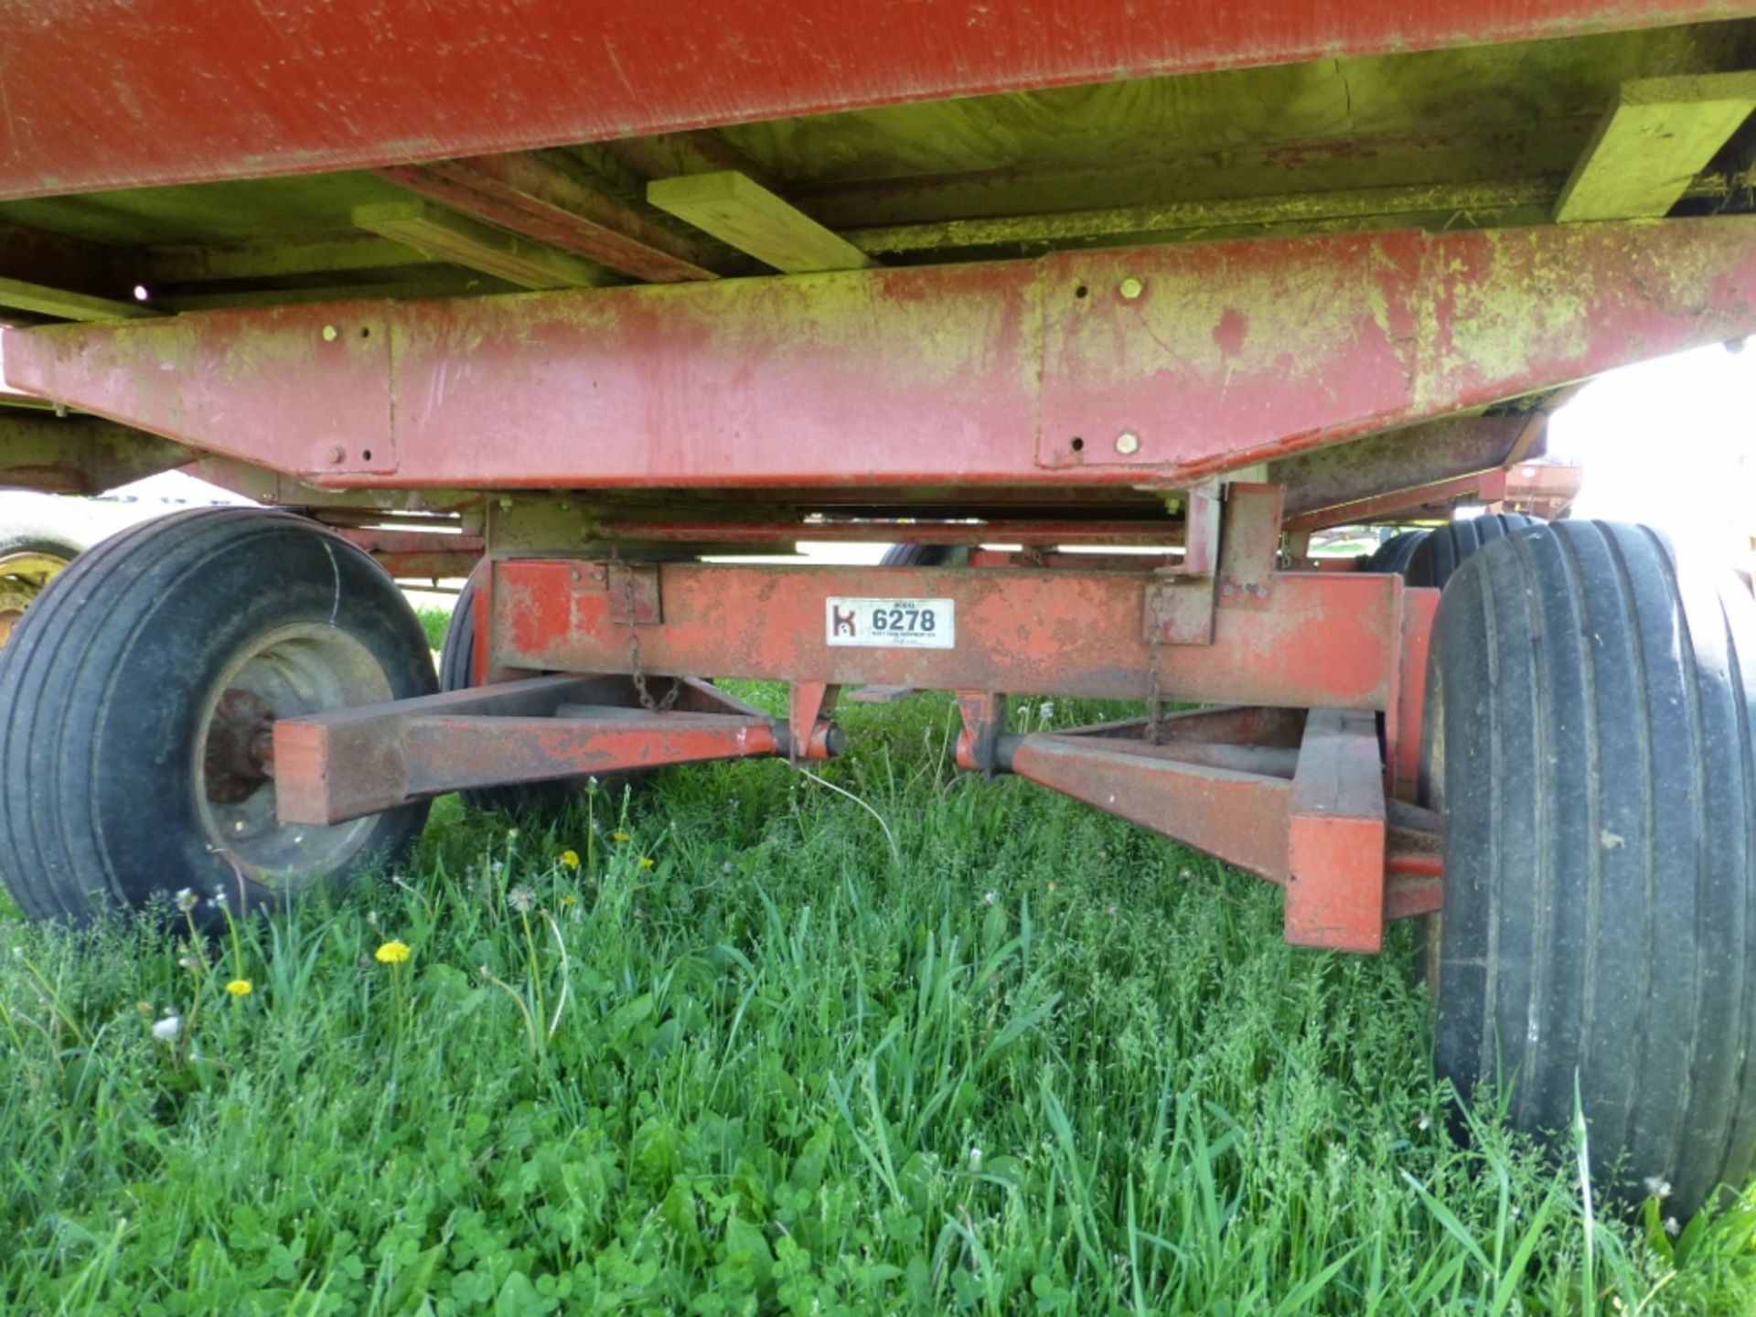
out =
<svg viewBox="0 0 1756 1317"><path fill-rule="evenodd" d="M876 265L852 242L736 170L646 184L646 200L783 274Z"/></svg>

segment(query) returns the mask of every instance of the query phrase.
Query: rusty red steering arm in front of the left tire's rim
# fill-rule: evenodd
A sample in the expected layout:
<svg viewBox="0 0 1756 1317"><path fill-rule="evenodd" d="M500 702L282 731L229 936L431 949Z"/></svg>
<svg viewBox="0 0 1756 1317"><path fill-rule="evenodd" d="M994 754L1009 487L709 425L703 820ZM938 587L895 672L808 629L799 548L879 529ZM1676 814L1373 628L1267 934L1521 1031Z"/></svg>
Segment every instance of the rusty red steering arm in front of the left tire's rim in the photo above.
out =
<svg viewBox="0 0 1756 1317"><path fill-rule="evenodd" d="M281 822L339 824L451 790L785 753L767 715L581 704L602 683L532 678L274 723ZM716 692L715 692L716 694Z"/></svg>

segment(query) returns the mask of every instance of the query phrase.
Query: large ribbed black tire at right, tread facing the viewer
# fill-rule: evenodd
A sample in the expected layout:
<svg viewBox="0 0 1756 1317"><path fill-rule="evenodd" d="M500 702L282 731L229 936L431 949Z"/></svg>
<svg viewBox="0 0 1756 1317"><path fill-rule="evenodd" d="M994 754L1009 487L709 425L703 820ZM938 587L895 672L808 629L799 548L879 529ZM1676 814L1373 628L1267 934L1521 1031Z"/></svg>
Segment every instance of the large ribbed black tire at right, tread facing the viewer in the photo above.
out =
<svg viewBox="0 0 1756 1317"><path fill-rule="evenodd" d="M1644 527L1491 543L1435 622L1438 1068L1565 1147L1577 1073L1600 1189L1666 1213L1756 1171L1752 669L1749 590Z"/></svg>

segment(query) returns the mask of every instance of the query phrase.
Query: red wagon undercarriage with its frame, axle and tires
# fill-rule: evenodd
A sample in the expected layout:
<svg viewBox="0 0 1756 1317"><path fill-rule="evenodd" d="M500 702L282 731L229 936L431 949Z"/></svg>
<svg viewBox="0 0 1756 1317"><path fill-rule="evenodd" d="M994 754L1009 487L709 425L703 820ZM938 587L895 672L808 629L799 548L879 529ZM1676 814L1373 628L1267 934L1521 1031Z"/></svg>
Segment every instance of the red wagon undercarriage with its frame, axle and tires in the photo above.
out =
<svg viewBox="0 0 1756 1317"><path fill-rule="evenodd" d="M1442 1064L1524 1038L1533 1127L1570 1066L1633 1110L1640 1057L1580 1041L1631 1027L1579 950L1624 929L1668 1017L1756 1040L1756 606L1522 515L1577 490L1542 457L1580 381L1756 334L1747 5L778 0L687 58L650 5L537 0L546 44L151 7L0 70L0 479L286 511L133 532L25 613L0 748L65 797L0 810L32 913L279 899L441 792L802 766L838 697L950 690L961 767L1284 885L1296 943L1443 910ZM706 560L801 539L903 548ZM367 555L472 576L443 692ZM1145 716L1018 730L1017 694ZM179 841L119 866L142 811ZM1695 1201L1756 1162L1728 1055L1621 1140Z"/></svg>

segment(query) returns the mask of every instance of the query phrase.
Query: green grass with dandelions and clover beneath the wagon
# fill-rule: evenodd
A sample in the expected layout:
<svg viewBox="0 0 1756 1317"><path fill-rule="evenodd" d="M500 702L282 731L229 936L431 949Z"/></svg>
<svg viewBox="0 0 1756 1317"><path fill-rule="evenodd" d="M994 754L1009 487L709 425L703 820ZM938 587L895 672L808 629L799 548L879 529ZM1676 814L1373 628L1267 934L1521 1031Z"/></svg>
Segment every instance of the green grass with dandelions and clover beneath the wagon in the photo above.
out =
<svg viewBox="0 0 1756 1317"><path fill-rule="evenodd" d="M955 774L952 716L850 711L874 813L718 766L516 834L443 801L235 939L0 917L11 1312L1749 1305L1751 1203L1589 1224L1491 1106L1447 1133L1407 929L1291 950L1266 885Z"/></svg>

